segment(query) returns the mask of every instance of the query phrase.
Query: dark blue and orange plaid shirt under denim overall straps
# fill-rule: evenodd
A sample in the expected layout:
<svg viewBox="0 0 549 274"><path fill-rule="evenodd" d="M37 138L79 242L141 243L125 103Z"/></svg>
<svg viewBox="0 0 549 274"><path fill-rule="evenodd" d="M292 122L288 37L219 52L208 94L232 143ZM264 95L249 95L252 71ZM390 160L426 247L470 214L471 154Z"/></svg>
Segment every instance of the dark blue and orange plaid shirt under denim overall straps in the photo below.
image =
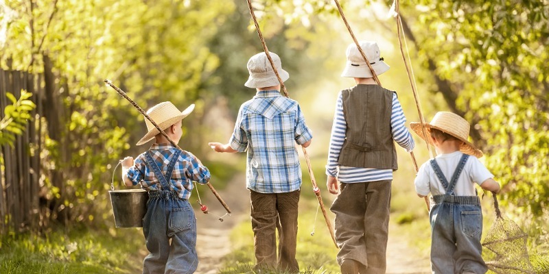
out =
<svg viewBox="0 0 549 274"><path fill-rule="evenodd" d="M159 166L163 174L167 171L167 164L170 163L172 155L176 151L176 147L166 144L152 144L149 151L152 154L154 162ZM158 178L147 165L145 153L139 154L135 159L135 165L128 169L128 178L133 182L133 185L141 184L141 188L145 190L163 190ZM170 179L170 190L178 193L180 198L189 199L193 190L192 181L206 184L210 180L210 171L206 166L198 163L196 157L188 152L182 151L179 159L172 171L172 179Z"/></svg>

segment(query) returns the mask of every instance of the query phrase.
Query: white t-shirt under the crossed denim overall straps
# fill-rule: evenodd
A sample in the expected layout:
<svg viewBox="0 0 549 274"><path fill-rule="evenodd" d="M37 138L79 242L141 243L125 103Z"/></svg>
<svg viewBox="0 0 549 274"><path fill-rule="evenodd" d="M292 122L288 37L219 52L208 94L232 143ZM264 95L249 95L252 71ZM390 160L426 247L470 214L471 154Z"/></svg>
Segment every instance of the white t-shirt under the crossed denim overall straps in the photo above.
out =
<svg viewBox="0 0 549 274"><path fill-rule="evenodd" d="M441 171L448 183L454 175L454 171L458 166L459 160L463 153L460 151L441 154L436 156L436 163L441 167ZM487 179L493 178L493 174L486 169L475 156L469 156L469 159L463 167L463 171L458 177L456 187L454 188L454 195L456 196L476 196L474 184L482 184ZM430 162L425 162L419 168L417 177L414 181L416 186L416 192L419 195L427 196L429 192L432 195L442 195L446 193L443 184L439 178L436 177L434 170Z"/></svg>

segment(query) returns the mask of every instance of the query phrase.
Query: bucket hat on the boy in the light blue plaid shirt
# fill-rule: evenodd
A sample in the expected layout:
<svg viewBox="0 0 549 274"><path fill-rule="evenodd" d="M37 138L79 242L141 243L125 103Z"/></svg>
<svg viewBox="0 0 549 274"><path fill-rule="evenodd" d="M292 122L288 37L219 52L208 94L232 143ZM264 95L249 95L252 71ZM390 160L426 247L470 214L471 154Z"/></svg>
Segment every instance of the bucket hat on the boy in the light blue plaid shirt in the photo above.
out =
<svg viewBox="0 0 549 274"><path fill-rule="evenodd" d="M282 69L282 62L280 61L279 55L276 53L269 52L274 66L277 68L282 82L285 82L290 78L290 75L287 71ZM264 52L257 53L253 55L250 60L248 60L248 72L250 77L244 86L248 88L265 88L268 86L277 86L280 84L277 75L272 71L272 66L270 65L269 59Z"/></svg>

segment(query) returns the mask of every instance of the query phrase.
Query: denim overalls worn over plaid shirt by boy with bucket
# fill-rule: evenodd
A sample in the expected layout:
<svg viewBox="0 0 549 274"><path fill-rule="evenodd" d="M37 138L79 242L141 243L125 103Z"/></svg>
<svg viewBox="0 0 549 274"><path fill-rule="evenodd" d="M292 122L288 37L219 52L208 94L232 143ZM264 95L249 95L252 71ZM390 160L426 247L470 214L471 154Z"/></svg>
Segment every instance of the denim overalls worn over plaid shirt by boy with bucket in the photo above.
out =
<svg viewBox="0 0 549 274"><path fill-rule="evenodd" d="M149 192L143 234L150 253L143 260L143 273L194 273L198 266L194 210L189 201L181 199L169 186L180 153L177 150L172 155L166 175L162 174L150 151L145 153L147 165L163 190Z"/></svg>

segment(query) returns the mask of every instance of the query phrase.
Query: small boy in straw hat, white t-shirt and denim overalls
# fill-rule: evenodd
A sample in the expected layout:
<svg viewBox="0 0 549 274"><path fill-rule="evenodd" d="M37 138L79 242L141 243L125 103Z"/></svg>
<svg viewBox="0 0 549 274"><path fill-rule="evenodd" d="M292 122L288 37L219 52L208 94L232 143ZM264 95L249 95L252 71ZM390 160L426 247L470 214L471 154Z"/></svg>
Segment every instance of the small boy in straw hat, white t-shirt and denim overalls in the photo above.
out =
<svg viewBox="0 0 549 274"><path fill-rule="evenodd" d="M427 136L421 123L410 127L440 153L421 165L414 182L419 197L433 195L433 273L486 273L480 245L482 210L474 184L492 192L499 192L500 184L478 160L482 151L467 140L469 123L452 112L437 112L423 125Z"/></svg>

